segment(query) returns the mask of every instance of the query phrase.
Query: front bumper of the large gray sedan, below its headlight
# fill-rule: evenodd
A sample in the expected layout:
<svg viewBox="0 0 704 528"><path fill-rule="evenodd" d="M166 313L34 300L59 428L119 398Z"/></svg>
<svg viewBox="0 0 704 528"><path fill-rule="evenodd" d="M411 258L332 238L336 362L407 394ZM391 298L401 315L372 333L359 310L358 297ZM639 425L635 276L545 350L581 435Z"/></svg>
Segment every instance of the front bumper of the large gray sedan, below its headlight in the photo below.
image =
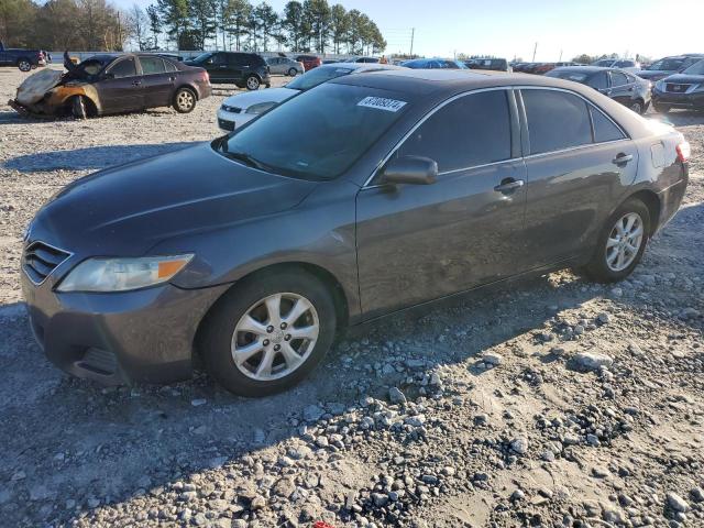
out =
<svg viewBox="0 0 704 528"><path fill-rule="evenodd" d="M228 289L166 284L124 293L57 293L21 275L32 331L46 356L105 385L190 377L198 326Z"/></svg>

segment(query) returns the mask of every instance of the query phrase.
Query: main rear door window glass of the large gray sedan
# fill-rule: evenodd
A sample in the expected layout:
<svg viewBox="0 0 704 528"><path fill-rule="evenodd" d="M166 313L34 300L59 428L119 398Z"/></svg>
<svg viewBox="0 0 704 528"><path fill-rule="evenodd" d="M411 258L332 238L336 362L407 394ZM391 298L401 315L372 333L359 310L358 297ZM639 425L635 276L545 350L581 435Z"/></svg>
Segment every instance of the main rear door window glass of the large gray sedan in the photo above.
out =
<svg viewBox="0 0 704 528"><path fill-rule="evenodd" d="M592 143L586 102L557 90L521 90L530 154L560 151Z"/></svg>

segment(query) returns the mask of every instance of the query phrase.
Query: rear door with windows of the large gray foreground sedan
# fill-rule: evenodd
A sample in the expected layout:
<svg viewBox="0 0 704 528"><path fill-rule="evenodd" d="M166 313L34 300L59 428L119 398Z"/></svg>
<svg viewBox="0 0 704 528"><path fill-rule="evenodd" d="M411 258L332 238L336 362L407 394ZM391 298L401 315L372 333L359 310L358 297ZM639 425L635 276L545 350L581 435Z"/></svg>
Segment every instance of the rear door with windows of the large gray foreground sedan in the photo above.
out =
<svg viewBox="0 0 704 528"><path fill-rule="evenodd" d="M591 251L636 178L638 150L610 118L569 90L521 88L519 101L528 152L524 250L538 267Z"/></svg>

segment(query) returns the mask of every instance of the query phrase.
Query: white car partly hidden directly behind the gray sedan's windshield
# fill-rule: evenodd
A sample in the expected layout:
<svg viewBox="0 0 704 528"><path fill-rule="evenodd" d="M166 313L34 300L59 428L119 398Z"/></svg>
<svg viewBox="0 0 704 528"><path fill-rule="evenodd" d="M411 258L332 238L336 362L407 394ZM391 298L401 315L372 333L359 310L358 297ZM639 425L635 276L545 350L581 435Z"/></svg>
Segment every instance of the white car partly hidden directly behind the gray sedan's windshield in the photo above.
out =
<svg viewBox="0 0 704 528"><path fill-rule="evenodd" d="M286 99L309 90L326 80L343 75L375 72L378 69L402 69L391 64L374 63L336 63L323 64L304 75L296 77L283 88L248 91L228 97L218 110L218 127L226 132L242 127L262 113L280 105Z"/></svg>

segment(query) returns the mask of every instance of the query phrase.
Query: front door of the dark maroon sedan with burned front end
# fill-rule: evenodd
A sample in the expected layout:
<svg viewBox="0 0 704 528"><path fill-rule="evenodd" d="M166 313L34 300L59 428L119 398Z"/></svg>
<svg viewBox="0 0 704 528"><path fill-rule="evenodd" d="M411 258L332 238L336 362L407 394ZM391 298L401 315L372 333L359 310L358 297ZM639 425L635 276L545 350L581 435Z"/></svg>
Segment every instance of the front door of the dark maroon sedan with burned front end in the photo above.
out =
<svg viewBox="0 0 704 528"><path fill-rule="evenodd" d="M114 61L95 87L103 113L118 113L144 108L142 76L138 75L133 56Z"/></svg>

